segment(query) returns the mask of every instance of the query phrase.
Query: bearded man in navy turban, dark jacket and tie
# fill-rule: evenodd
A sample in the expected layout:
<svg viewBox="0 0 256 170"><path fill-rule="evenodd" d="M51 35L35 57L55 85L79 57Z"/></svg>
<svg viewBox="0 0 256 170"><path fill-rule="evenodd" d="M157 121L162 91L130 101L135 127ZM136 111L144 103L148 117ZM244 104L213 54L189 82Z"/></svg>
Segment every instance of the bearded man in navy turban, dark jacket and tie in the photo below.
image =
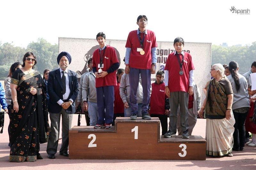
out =
<svg viewBox="0 0 256 170"><path fill-rule="evenodd" d="M68 70L71 55L61 52L57 57L60 66L51 71L48 78L50 100L48 111L51 119L51 132L47 144L48 158L55 159L59 142L60 116L62 118L62 143L60 155L68 156L68 131L71 129L72 114L75 113L75 100L78 94L77 74Z"/></svg>

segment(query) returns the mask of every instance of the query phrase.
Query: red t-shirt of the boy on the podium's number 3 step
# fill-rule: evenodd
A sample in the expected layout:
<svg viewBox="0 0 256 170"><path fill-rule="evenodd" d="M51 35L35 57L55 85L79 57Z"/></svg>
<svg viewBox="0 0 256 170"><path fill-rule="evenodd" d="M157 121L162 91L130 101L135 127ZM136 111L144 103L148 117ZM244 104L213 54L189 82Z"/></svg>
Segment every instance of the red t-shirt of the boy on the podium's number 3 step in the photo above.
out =
<svg viewBox="0 0 256 170"><path fill-rule="evenodd" d="M178 54L180 57L180 62L182 61L182 54ZM182 70L184 72L183 75L179 74L180 71L180 63L174 55L171 53L166 61L166 65L164 70L169 71L169 80L168 80L168 87L170 92L175 91L184 91L188 92L189 88L189 71L194 70L194 65L192 61L192 57L189 53L184 52L184 62L182 65Z"/></svg>

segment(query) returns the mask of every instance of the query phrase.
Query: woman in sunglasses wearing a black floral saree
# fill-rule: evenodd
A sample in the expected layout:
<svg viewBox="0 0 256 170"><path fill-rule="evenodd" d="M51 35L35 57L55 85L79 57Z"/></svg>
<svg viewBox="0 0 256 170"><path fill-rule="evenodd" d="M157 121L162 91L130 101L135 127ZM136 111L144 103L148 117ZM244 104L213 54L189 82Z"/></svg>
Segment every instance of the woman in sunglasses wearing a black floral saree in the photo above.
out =
<svg viewBox="0 0 256 170"><path fill-rule="evenodd" d="M36 56L27 52L21 69L11 79L10 161L34 162L43 159L40 143L47 142L50 126L46 107L46 87L38 71L33 70Z"/></svg>

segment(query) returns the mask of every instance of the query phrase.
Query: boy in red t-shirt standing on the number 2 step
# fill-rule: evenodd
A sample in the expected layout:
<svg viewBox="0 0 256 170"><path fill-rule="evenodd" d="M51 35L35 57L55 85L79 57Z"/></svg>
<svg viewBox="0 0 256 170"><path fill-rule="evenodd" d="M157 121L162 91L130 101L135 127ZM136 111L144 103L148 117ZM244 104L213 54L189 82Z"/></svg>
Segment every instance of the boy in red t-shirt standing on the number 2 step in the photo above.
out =
<svg viewBox="0 0 256 170"><path fill-rule="evenodd" d="M92 71L96 76L99 117L94 128L110 129L114 115L114 86L117 85L116 70L119 67L119 61L115 49L106 45L106 35L103 32L99 32L96 39L100 48L92 54Z"/></svg>

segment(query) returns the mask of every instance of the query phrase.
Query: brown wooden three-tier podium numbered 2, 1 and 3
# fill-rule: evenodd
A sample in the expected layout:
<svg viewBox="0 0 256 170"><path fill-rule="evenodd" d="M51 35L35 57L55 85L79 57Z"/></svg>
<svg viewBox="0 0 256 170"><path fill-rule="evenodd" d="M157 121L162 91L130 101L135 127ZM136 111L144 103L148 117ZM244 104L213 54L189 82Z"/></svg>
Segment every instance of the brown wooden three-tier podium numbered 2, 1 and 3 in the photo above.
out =
<svg viewBox="0 0 256 170"><path fill-rule="evenodd" d="M70 159L205 160L201 136L164 138L160 120L117 117L111 129L74 126L69 130Z"/></svg>

